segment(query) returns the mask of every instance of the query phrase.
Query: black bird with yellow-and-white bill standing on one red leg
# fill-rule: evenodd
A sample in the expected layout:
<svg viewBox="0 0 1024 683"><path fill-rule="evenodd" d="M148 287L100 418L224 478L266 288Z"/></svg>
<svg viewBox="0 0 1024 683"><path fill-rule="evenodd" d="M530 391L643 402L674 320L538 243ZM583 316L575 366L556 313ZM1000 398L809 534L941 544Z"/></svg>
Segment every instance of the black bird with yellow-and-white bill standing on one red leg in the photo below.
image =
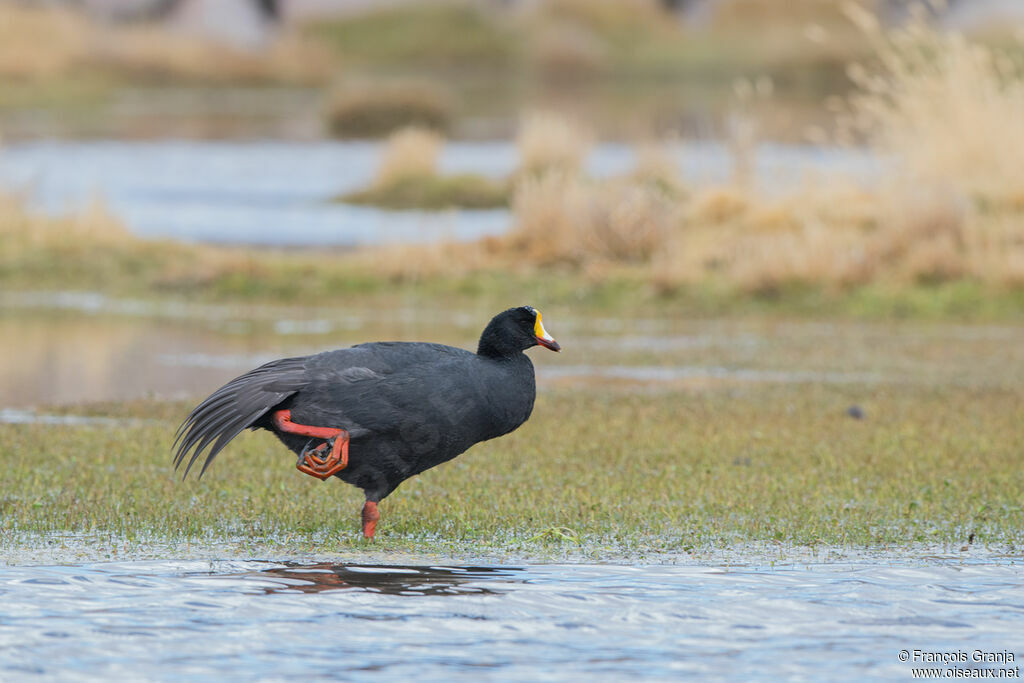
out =
<svg viewBox="0 0 1024 683"><path fill-rule="evenodd" d="M537 386L523 351L538 344L560 350L541 312L521 306L490 321L476 353L372 342L272 360L193 410L178 428L174 466L187 457L187 476L209 449L203 476L242 430L266 429L298 454L300 471L366 493L362 533L372 539L377 504L398 484L529 418Z"/></svg>

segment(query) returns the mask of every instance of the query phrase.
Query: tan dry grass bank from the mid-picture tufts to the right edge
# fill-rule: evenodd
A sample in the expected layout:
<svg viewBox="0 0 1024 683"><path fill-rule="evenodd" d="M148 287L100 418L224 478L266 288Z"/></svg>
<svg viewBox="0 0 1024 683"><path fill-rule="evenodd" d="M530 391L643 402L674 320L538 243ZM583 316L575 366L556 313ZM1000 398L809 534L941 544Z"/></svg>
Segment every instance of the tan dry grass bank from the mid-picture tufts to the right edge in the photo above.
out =
<svg viewBox="0 0 1024 683"><path fill-rule="evenodd" d="M549 118L547 137L534 140L551 143L531 146L557 151L536 163L556 172L519 183L514 253L641 263L663 288L707 279L749 291L965 279L1024 286L1020 60L920 23L883 32L862 6L848 11L877 66L851 68L858 89L840 124L877 155L884 170L873 182L831 176L766 197L742 168L753 165L745 153L734 155L739 172L728 186L667 191L642 172L597 181L580 170L582 145L563 151L573 127Z"/></svg>

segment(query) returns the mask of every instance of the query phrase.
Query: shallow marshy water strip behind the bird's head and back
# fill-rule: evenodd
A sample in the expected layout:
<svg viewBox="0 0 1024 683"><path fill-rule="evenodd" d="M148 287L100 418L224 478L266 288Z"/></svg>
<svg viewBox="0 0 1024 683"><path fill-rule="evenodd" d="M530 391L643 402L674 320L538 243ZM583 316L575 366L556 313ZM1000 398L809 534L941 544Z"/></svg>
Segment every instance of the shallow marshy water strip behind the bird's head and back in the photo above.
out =
<svg viewBox="0 0 1024 683"><path fill-rule="evenodd" d="M0 412L0 422L31 420L25 409L39 405L194 398L273 358L375 339L473 348L490 312L232 308L0 293L0 409L23 411ZM1024 381L1019 326L548 319L563 351L530 354L542 387L813 383L868 395L871 387L893 385L1016 389Z"/></svg>

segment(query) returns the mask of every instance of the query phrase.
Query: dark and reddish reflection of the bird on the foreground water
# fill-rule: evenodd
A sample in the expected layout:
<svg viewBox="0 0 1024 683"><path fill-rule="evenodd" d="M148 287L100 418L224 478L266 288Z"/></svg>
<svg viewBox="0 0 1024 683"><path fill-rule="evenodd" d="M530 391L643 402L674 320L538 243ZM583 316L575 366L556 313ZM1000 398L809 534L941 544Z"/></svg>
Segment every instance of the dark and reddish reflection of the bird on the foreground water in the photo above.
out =
<svg viewBox="0 0 1024 683"><path fill-rule="evenodd" d="M517 582L518 567L380 566L360 564L300 564L263 569L253 575L272 579L280 586L266 593L321 593L356 590L385 595L495 595L504 591L484 582Z"/></svg>

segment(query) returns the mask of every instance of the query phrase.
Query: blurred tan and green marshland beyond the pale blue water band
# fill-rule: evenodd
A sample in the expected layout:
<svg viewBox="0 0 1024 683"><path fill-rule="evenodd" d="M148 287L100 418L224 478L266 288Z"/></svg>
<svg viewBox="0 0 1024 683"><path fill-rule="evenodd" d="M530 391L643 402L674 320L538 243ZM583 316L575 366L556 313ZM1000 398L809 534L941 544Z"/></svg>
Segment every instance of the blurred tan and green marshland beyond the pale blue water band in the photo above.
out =
<svg viewBox="0 0 1024 683"><path fill-rule="evenodd" d="M321 128L302 131L307 135L381 135L415 123L460 138L508 137L523 109L557 108L586 120L602 137L709 137L725 134L721 114L730 105L735 79L746 78L771 80L779 97L765 111L787 111L787 120L770 122L771 135L801 139L805 125L827 122L818 111L822 98L849 89L847 65L871 52L843 5L5 2L0 105L5 128L15 135L61 132L32 130L24 115L40 110L50 113L50 125L71 126L71 134L153 135L161 131L146 131L140 121L134 123L141 130L109 127L111 115L120 114L117 102L138 97L136 88L178 91L193 110L185 113L201 119L230 109L230 90L276 87L291 90L295 110L324 111ZM898 6L880 2L878 9L899 23L904 12ZM270 95L263 113L280 118L273 101L280 99ZM157 98L148 114L159 117L166 101ZM256 111L247 114L260 114L260 100L251 101ZM231 134L195 125L169 132Z"/></svg>

